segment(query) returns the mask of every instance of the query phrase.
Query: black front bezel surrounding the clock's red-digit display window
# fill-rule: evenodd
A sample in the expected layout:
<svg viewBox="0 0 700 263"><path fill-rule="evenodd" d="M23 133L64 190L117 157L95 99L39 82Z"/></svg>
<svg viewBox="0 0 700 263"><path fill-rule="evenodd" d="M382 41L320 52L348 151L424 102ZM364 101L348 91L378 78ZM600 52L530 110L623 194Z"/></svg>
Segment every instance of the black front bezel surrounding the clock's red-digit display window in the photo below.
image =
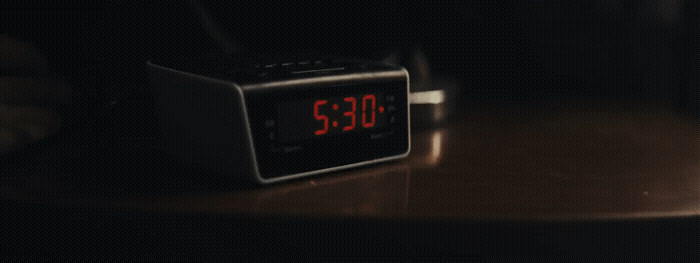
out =
<svg viewBox="0 0 700 263"><path fill-rule="evenodd" d="M274 123L279 121L276 105L279 103L365 93L394 96L391 106L395 110L390 113L393 123L379 130L319 136L298 142L283 143L275 134ZM400 158L410 150L406 78L368 79L320 87L253 89L245 95L245 101L258 173L263 181Z"/></svg>

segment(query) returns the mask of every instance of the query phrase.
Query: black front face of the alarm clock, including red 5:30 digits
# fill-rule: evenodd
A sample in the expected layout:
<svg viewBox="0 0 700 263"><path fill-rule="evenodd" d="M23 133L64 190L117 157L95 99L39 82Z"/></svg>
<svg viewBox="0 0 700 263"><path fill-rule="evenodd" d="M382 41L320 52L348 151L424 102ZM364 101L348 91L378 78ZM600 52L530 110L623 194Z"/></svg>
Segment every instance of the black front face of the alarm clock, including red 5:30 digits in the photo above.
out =
<svg viewBox="0 0 700 263"><path fill-rule="evenodd" d="M247 93L246 104L263 178L376 160L408 151L405 79L261 89Z"/></svg>

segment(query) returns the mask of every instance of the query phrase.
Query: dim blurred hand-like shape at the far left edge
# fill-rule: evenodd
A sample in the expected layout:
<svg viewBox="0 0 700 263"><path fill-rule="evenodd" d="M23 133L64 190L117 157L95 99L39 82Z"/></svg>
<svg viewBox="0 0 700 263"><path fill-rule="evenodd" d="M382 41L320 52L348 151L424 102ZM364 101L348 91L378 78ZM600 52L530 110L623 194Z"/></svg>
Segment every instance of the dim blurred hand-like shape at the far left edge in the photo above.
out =
<svg viewBox="0 0 700 263"><path fill-rule="evenodd" d="M33 47L0 36L0 154L44 139L59 128L52 106L70 92L47 77L47 62Z"/></svg>

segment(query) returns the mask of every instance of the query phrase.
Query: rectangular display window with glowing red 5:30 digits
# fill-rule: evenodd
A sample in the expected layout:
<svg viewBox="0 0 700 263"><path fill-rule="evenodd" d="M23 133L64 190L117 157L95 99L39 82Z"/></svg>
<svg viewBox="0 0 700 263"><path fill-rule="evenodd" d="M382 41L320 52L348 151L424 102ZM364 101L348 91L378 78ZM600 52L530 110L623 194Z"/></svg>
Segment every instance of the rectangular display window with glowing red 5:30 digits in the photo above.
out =
<svg viewBox="0 0 700 263"><path fill-rule="evenodd" d="M393 96L389 99L394 100ZM277 105L281 142L336 136L387 127L381 92L283 102ZM392 109L393 111L393 109Z"/></svg>

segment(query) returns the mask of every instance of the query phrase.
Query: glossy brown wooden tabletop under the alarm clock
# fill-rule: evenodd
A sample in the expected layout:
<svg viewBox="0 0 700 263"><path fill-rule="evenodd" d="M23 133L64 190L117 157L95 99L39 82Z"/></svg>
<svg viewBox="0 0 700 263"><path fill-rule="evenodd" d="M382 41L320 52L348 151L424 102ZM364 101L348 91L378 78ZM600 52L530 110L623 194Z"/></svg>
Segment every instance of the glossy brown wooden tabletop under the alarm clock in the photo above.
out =
<svg viewBox="0 0 700 263"><path fill-rule="evenodd" d="M467 108L456 121L414 131L406 159L285 183L92 200L52 186L56 179L7 176L0 190L18 202L244 216L548 221L700 215L696 119L629 105Z"/></svg>

